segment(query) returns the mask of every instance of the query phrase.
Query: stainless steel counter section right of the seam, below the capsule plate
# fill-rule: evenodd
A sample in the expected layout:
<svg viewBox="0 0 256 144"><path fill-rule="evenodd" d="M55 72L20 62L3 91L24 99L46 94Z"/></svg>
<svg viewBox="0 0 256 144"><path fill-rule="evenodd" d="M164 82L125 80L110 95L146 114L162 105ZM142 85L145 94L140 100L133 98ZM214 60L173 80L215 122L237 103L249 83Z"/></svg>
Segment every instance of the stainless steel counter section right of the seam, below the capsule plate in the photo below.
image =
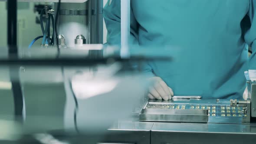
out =
<svg viewBox="0 0 256 144"><path fill-rule="evenodd" d="M255 144L254 124L154 123L151 144Z"/></svg>

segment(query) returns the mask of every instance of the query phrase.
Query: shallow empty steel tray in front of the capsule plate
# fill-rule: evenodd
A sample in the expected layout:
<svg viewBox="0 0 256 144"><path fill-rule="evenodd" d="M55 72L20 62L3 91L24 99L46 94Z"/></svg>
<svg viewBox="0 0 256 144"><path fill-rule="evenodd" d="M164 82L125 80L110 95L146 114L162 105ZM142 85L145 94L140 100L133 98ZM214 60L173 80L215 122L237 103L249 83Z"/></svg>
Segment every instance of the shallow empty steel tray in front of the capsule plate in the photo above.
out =
<svg viewBox="0 0 256 144"><path fill-rule="evenodd" d="M208 122L208 110L142 109L140 121Z"/></svg>

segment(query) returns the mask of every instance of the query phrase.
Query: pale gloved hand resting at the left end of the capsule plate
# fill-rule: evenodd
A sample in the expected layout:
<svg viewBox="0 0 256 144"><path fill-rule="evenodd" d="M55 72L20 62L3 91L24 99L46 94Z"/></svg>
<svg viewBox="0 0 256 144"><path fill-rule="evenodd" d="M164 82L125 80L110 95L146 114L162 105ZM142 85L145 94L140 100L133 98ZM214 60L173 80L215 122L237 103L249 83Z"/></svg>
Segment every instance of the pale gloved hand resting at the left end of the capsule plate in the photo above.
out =
<svg viewBox="0 0 256 144"><path fill-rule="evenodd" d="M153 86L149 88L148 97L150 99L169 100L174 96L174 92L160 77L152 77L149 79L153 82Z"/></svg>

